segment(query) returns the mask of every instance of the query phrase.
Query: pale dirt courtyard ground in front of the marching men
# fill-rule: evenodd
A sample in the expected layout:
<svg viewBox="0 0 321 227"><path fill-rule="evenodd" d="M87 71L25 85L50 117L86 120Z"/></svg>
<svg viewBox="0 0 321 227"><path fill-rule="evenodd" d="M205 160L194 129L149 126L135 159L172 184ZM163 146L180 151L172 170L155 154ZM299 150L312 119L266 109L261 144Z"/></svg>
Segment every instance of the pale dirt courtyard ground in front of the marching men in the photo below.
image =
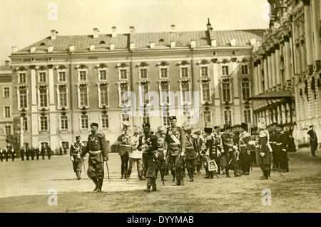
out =
<svg viewBox="0 0 321 227"><path fill-rule="evenodd" d="M185 186L165 186L145 193L146 181L138 181L136 168L129 181L120 179L121 160L111 153L108 183L105 166L103 193L93 193L93 182L81 173L76 180L68 156L51 160L11 160L0 163L0 212L321 212L321 154L312 158L309 148L289 153L290 172L271 172L260 180L260 168L249 176L205 179L205 170ZM88 163L86 161L86 168ZM231 171L232 172L232 171ZM49 189L57 191L57 206L49 206ZM269 188L271 206L263 206L261 192Z"/></svg>

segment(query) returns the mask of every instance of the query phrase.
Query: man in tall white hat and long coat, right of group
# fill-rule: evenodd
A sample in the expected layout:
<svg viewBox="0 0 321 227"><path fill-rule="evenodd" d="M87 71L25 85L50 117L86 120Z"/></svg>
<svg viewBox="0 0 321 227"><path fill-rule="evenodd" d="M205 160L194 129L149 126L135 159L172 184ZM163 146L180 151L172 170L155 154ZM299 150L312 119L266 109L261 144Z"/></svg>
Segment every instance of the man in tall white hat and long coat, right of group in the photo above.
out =
<svg viewBox="0 0 321 227"><path fill-rule="evenodd" d="M271 154L269 148L269 133L266 130L265 121L263 118L258 122L258 164L263 171L263 177L261 179L267 180L269 178Z"/></svg>

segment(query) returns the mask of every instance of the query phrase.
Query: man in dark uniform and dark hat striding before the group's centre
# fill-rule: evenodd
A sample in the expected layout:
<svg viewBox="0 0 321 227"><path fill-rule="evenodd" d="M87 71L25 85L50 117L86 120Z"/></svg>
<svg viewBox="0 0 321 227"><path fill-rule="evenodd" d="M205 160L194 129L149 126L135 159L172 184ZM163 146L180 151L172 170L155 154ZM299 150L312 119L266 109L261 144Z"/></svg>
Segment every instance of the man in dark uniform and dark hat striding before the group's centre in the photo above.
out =
<svg viewBox="0 0 321 227"><path fill-rule="evenodd" d="M139 137L138 150L143 151L143 156L146 163L146 177L148 178L147 187L144 191L156 191L156 156L155 153L158 149L157 137L151 134L151 125L143 123L143 135ZM152 187L152 190L151 190Z"/></svg>

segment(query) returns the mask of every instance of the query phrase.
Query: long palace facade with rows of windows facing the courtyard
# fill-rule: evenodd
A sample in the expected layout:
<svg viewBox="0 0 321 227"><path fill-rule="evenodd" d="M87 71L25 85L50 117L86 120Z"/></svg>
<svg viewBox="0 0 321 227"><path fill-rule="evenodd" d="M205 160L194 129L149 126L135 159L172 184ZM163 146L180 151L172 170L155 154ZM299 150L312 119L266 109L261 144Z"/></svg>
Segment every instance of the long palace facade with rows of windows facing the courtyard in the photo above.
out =
<svg viewBox="0 0 321 227"><path fill-rule="evenodd" d="M111 34L93 29L90 35L60 36L52 30L31 46L12 49L12 115L21 118L25 146L49 143L53 149L70 146L76 135L86 141L91 122L99 123L111 144L122 121L168 126L170 109L178 125L196 109L194 127L253 123L251 56L263 32L215 31L209 20L204 31L175 31L172 25L168 32L137 33L131 26L128 34L112 27ZM136 104L122 99L126 91L136 94ZM171 100L162 91L188 95ZM139 101L139 94L145 99ZM144 111L152 100L159 116ZM123 114L124 106L143 114Z"/></svg>

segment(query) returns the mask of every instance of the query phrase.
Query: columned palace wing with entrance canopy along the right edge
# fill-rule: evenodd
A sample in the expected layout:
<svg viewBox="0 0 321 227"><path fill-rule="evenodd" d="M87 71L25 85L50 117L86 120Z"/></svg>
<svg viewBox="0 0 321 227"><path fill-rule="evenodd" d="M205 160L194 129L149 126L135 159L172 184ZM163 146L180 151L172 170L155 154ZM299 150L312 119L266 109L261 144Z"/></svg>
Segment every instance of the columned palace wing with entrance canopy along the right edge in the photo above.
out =
<svg viewBox="0 0 321 227"><path fill-rule="evenodd" d="M310 124L321 136L320 0L269 3L270 29L253 49L253 113L293 126L296 143L307 143Z"/></svg>

